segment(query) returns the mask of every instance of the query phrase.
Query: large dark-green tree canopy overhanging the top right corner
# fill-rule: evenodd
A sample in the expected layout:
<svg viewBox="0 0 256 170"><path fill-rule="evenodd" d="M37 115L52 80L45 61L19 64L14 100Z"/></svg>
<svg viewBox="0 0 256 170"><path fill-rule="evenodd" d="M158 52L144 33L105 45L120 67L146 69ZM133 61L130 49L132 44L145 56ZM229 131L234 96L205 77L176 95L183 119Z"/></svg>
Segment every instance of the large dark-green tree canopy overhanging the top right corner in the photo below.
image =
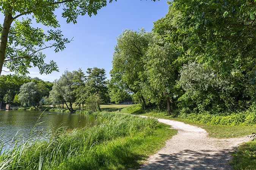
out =
<svg viewBox="0 0 256 170"><path fill-rule="evenodd" d="M255 1L174 0L154 32L179 55L195 56L193 61L205 63L222 79L233 75L256 99L255 15Z"/></svg>

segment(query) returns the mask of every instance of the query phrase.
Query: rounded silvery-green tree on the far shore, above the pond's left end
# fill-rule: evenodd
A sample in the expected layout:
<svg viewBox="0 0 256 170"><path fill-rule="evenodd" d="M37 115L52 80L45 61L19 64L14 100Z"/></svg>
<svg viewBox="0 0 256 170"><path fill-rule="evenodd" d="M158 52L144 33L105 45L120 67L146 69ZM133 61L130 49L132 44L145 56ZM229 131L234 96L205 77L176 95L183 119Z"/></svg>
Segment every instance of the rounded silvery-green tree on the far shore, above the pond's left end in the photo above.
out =
<svg viewBox="0 0 256 170"><path fill-rule="evenodd" d="M25 83L20 87L19 102L22 106L34 106L36 108L37 87L34 82Z"/></svg>

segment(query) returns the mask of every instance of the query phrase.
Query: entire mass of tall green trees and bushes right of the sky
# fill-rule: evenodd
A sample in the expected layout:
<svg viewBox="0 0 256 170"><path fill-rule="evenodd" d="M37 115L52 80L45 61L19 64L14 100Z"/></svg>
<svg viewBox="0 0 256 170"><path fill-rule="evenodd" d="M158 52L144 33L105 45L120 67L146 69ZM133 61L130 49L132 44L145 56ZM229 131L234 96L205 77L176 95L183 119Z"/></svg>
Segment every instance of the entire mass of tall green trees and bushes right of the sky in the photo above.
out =
<svg viewBox="0 0 256 170"><path fill-rule="evenodd" d="M255 2L169 3L152 32L127 29L117 38L111 100L132 94L169 114L247 110L256 97Z"/></svg>

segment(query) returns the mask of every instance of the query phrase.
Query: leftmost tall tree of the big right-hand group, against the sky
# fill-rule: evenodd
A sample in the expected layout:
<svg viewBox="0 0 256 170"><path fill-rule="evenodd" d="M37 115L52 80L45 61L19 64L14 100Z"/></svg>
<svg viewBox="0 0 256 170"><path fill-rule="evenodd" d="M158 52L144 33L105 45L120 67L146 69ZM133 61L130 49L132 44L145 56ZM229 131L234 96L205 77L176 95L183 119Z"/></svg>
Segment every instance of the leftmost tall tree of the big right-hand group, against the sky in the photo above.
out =
<svg viewBox="0 0 256 170"><path fill-rule="evenodd" d="M113 84L110 89L113 91L110 93L112 101L116 95L114 91L118 92L115 88L118 88L120 89L118 94L132 94L133 100L140 102L143 107L146 106L147 101L144 99L141 83L147 80L144 64L152 37L153 34L144 29L140 31L126 29L118 36L110 71Z"/></svg>

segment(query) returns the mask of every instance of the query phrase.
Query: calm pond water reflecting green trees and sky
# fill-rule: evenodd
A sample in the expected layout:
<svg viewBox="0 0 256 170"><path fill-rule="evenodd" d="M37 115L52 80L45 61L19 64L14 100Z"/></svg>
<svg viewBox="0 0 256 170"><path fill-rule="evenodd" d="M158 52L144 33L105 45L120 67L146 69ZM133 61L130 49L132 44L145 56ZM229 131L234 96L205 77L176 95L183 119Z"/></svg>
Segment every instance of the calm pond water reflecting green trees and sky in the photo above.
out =
<svg viewBox="0 0 256 170"><path fill-rule="evenodd" d="M93 126L99 122L94 118L83 114L44 112L39 120L42 111L17 111L0 110L0 139L4 148L13 146L13 138L22 139L48 139L59 126L66 128L83 128ZM44 121L44 122L42 122ZM41 123L40 123L41 122ZM36 125L40 123L40 125ZM36 126L35 126L36 125ZM30 134L31 130L32 133ZM20 141L22 142L22 141Z"/></svg>

